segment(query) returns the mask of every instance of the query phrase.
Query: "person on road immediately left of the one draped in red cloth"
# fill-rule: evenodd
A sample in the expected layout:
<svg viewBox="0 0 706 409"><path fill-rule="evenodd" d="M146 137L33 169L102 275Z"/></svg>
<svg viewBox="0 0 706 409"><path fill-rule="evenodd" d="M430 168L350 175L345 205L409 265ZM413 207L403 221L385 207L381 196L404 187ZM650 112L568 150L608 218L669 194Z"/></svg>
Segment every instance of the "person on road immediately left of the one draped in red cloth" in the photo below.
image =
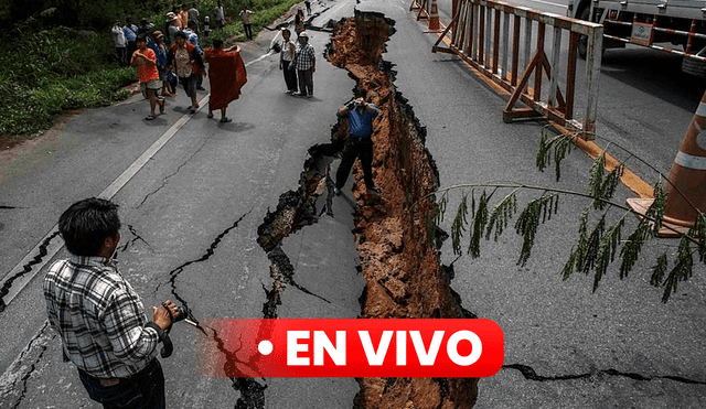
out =
<svg viewBox="0 0 706 409"><path fill-rule="evenodd" d="M186 34L183 31L176 33L176 43L169 50L167 69L176 67L179 82L183 85L186 95L191 98L191 114L196 114L199 101L196 100L196 77L200 73L205 73L205 66L196 46L186 42Z"/></svg>

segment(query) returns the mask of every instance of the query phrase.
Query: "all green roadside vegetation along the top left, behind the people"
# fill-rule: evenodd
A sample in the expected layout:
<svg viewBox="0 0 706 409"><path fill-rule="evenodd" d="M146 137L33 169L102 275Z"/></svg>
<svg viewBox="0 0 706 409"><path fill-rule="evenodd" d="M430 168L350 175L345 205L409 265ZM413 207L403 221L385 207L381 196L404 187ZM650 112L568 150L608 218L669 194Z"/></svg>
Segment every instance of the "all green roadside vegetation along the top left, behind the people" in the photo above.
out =
<svg viewBox="0 0 706 409"><path fill-rule="evenodd" d="M210 37L226 42L244 40L242 8L252 10L255 35L261 26L289 10L297 0L223 1L226 26L215 30L216 0L197 1L203 31L211 19ZM176 2L181 3L181 2ZM189 7L193 1L185 2ZM0 136L35 137L51 128L54 119L69 110L95 108L131 95L133 67L120 67L115 57L110 26L126 19L139 24L147 19L154 30L164 30L167 0L93 2L76 0L0 0L0 21L8 30L0 52Z"/></svg>

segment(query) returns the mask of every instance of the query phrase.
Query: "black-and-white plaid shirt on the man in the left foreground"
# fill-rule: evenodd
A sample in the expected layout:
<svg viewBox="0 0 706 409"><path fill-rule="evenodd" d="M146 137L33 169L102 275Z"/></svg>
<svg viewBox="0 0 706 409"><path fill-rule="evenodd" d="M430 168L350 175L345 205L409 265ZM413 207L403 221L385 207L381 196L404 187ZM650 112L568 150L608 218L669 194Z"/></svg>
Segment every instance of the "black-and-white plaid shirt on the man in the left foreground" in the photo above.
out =
<svg viewBox="0 0 706 409"><path fill-rule="evenodd" d="M44 278L46 314L64 355L96 378L126 378L154 357L145 308L114 263L103 257L56 261Z"/></svg>

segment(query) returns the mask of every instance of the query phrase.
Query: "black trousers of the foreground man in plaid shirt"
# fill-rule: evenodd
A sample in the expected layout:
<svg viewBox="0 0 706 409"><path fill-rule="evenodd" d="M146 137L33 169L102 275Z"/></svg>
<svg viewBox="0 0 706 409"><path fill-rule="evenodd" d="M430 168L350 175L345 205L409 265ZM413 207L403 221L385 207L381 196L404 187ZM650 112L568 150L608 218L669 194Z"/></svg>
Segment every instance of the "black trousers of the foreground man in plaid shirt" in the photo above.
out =
<svg viewBox="0 0 706 409"><path fill-rule="evenodd" d="M105 409L164 409L164 373L157 358L130 378L120 378L117 385L104 386L78 369L78 377L90 399Z"/></svg>

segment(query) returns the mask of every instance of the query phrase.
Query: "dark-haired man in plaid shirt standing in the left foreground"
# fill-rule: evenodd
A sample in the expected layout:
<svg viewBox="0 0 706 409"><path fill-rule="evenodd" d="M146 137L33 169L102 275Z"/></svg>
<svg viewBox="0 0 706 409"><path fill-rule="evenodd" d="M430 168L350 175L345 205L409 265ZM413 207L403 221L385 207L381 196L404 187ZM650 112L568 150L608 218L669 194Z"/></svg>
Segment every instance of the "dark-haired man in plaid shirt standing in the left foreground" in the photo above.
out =
<svg viewBox="0 0 706 409"><path fill-rule="evenodd" d="M103 198L74 203L58 219L68 260L44 278L46 314L90 399L104 408L164 408L164 374L156 358L178 306L152 306L148 322L140 297L113 256L120 241L118 205Z"/></svg>

